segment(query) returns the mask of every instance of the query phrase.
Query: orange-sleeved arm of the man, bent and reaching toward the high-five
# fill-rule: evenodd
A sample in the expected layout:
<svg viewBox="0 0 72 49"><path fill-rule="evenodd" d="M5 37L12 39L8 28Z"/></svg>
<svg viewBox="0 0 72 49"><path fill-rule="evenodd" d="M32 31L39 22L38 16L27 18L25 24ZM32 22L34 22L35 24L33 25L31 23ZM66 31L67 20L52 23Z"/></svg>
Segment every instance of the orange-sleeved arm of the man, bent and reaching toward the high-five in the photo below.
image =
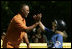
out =
<svg viewBox="0 0 72 49"><path fill-rule="evenodd" d="M21 30L21 31L29 31L29 30L32 30L34 29L38 24L39 22L36 22L35 24L33 24L32 26L29 26L27 27L23 22L22 20L20 19L15 19L15 23L16 23L16 26L17 29Z"/></svg>

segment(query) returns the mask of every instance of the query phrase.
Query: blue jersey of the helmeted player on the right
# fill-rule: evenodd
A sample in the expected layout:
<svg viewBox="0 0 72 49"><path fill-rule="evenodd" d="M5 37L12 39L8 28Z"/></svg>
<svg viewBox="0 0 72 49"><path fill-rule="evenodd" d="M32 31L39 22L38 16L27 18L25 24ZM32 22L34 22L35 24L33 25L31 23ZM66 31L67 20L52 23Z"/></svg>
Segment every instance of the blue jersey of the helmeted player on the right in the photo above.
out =
<svg viewBox="0 0 72 49"><path fill-rule="evenodd" d="M63 36L54 33L52 30L45 28L45 35L47 36L47 43L49 48L62 48Z"/></svg>

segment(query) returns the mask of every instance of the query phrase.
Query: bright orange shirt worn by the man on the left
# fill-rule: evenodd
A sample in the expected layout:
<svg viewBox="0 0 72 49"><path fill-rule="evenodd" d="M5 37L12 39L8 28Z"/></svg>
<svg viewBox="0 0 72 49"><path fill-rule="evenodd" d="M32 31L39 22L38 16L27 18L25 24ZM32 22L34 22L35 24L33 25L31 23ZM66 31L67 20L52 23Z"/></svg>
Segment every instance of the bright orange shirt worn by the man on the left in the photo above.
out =
<svg viewBox="0 0 72 49"><path fill-rule="evenodd" d="M14 16L9 24L6 37L3 40L3 47L6 47L7 44L13 46L19 45L24 37L24 33L26 33L24 31L26 28L25 19L20 14Z"/></svg>

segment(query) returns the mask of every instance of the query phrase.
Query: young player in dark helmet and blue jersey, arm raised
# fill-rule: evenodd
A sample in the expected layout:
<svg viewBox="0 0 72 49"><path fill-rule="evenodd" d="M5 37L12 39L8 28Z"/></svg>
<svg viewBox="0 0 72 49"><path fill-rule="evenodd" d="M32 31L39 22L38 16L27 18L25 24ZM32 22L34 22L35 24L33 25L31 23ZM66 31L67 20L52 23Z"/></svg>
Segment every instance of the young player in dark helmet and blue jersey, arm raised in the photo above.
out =
<svg viewBox="0 0 72 49"><path fill-rule="evenodd" d="M63 33L66 27L66 23L63 20L54 20L52 22L52 30L45 27L42 22L40 22L40 27L43 31L45 31L45 35L48 41L48 48L63 47L63 37L67 36Z"/></svg>

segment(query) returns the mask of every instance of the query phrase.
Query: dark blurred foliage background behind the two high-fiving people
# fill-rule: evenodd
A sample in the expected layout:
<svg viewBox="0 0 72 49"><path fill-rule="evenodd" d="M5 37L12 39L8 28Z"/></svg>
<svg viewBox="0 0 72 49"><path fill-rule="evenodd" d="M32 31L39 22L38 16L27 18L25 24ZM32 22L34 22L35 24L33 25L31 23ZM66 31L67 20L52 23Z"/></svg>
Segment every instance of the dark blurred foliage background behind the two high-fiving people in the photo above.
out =
<svg viewBox="0 0 72 49"><path fill-rule="evenodd" d="M23 3L30 7L27 26L34 23L33 9L39 9L43 16L42 23L48 28L51 28L53 19L63 19L66 22L68 37L65 42L71 42L71 1L1 1L1 34L6 33L11 19L19 12L20 5ZM28 35L30 39L31 34Z"/></svg>

